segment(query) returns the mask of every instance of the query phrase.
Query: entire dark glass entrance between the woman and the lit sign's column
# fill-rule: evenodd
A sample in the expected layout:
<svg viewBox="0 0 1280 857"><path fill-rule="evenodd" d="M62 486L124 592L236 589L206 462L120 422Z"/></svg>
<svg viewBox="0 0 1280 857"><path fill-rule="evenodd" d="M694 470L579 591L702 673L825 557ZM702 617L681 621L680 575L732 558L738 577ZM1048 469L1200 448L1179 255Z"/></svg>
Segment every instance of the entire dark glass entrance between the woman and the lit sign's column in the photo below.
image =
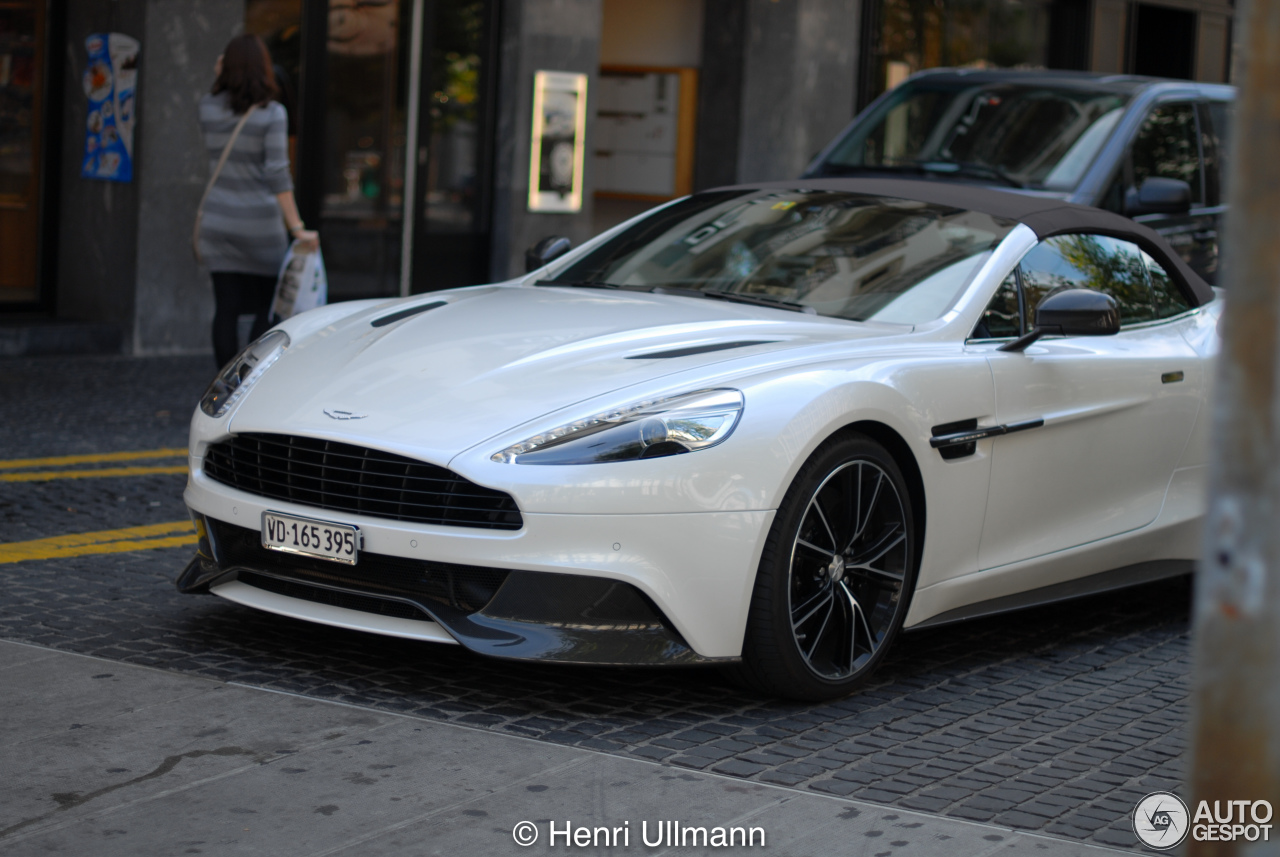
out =
<svg viewBox="0 0 1280 857"><path fill-rule="evenodd" d="M247 0L246 29L282 78L330 301L488 279L494 5Z"/></svg>

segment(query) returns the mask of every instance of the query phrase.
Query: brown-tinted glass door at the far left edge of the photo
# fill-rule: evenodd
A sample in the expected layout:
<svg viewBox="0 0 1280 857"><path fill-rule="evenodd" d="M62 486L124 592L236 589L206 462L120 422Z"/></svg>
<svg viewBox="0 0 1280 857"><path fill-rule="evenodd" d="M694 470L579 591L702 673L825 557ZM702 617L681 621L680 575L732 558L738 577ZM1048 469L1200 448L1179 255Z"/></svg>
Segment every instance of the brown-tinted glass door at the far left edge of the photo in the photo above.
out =
<svg viewBox="0 0 1280 857"><path fill-rule="evenodd" d="M40 298L45 4L0 0L0 304Z"/></svg>

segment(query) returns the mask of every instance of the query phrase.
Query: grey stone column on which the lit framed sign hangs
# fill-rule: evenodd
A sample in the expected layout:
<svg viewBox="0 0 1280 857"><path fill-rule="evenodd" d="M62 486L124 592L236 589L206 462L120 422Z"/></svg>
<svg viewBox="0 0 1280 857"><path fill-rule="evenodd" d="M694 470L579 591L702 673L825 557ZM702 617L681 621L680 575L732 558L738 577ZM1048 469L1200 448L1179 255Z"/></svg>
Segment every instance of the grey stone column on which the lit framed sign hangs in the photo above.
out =
<svg viewBox="0 0 1280 857"><path fill-rule="evenodd" d="M600 70L602 0L500 0L498 116L494 147L493 249L490 272L500 280L524 272L525 248L547 235L577 246L591 237L591 141ZM534 73L590 74L588 82L586 174L582 210L527 210Z"/></svg>

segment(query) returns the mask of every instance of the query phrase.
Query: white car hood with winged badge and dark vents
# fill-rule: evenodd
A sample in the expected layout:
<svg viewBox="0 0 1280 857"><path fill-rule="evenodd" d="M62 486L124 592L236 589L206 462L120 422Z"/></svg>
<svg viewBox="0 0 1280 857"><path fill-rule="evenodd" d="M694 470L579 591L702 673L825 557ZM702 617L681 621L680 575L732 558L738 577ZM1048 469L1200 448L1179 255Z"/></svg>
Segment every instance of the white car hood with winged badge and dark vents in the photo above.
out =
<svg viewBox="0 0 1280 857"><path fill-rule="evenodd" d="M443 306L372 324L436 302ZM365 306L303 333L232 414L229 430L342 437L444 463L544 414L667 375L908 330L705 298L460 289ZM695 353L649 357L672 350Z"/></svg>

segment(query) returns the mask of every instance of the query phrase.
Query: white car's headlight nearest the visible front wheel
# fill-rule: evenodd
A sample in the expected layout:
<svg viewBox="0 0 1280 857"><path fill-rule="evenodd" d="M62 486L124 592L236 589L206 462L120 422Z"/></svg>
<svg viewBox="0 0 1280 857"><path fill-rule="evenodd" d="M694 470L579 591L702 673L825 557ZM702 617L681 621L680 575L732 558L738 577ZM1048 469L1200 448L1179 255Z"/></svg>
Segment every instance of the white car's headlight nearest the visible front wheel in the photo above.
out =
<svg viewBox="0 0 1280 857"><path fill-rule="evenodd" d="M678 455L723 441L742 416L737 390L699 390L598 413L494 453L502 464L598 464Z"/></svg>

